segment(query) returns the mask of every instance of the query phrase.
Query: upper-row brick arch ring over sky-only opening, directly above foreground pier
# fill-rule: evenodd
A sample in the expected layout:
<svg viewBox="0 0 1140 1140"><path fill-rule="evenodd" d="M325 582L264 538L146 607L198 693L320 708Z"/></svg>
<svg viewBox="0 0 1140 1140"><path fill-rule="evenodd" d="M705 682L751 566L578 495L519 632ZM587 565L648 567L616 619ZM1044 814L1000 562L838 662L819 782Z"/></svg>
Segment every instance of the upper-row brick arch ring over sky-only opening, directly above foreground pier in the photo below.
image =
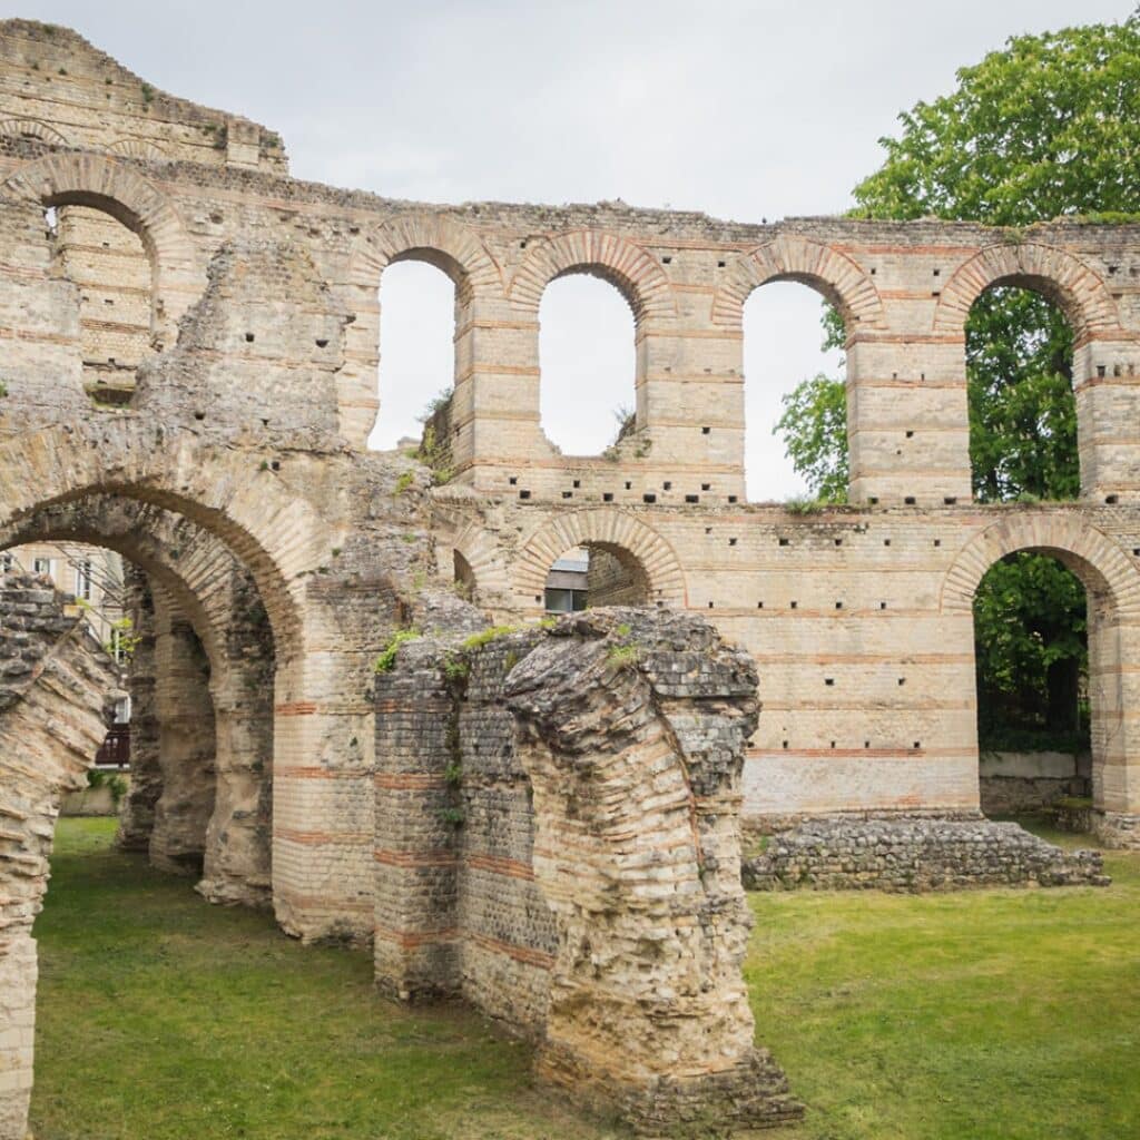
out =
<svg viewBox="0 0 1140 1140"><path fill-rule="evenodd" d="M546 286L575 272L613 285L638 324L676 316L673 288L658 259L628 238L594 229L559 234L529 246L511 280L511 301L518 309L537 314Z"/></svg>

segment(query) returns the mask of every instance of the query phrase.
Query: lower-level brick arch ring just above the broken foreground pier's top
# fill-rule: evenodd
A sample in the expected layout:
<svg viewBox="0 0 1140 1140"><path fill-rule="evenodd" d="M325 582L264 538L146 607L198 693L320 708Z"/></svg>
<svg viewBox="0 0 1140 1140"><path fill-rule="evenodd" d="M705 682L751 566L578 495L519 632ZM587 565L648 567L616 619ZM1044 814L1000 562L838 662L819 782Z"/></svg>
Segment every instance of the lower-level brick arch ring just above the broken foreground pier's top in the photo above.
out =
<svg viewBox="0 0 1140 1140"><path fill-rule="evenodd" d="M555 515L527 539L514 563L514 591L523 609L542 609L551 567L576 546L604 546L629 554L645 573L650 603L675 609L687 604L685 575L673 547L634 515L596 508Z"/></svg>

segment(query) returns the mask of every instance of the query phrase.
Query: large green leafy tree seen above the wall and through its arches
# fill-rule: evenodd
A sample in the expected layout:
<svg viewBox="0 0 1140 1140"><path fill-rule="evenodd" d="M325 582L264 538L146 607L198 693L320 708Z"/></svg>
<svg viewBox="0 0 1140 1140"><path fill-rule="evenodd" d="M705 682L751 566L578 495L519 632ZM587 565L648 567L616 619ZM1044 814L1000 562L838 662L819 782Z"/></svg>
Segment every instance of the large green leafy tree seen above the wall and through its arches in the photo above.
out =
<svg viewBox="0 0 1140 1140"><path fill-rule="evenodd" d="M1140 213L1140 10L1121 24L1015 36L959 71L953 92L899 122L897 137L881 140L882 166L855 188L858 217L1012 227L1132 218ZM824 327L829 345L841 345L833 310ZM1036 293L999 286L975 303L966 332L975 495L1073 498L1080 472L1065 315ZM787 397L777 430L822 492L816 473L839 470L847 441L832 414L839 405L821 389L815 378ZM999 723L1043 719L1050 731L1072 723L1088 670L1084 622L1083 589L1058 563L1019 554L991 570L975 604L984 734Z"/></svg>

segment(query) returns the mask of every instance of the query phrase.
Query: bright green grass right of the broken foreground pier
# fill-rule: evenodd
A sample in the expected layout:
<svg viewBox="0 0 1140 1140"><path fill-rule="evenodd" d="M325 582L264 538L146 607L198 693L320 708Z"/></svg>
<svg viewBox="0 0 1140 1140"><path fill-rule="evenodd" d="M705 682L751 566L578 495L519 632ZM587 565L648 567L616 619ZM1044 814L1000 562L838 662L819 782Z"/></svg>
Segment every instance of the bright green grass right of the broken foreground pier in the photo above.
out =
<svg viewBox="0 0 1140 1140"><path fill-rule="evenodd" d="M1140 1135L1140 855L1106 866L1108 889L754 895L757 1040L808 1105L789 1140Z"/></svg>

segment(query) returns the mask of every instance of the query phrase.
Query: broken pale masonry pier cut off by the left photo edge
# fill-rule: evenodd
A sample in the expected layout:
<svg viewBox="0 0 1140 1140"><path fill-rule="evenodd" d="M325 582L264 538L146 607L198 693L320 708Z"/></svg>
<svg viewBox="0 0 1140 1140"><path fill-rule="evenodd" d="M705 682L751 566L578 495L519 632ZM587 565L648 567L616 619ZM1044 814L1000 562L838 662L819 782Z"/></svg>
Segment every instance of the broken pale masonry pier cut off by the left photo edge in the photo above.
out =
<svg viewBox="0 0 1140 1140"><path fill-rule="evenodd" d="M70 601L70 598L66 598ZM0 576L0 1138L24 1140L35 1036L32 922L56 817L87 784L117 670L46 578Z"/></svg>

